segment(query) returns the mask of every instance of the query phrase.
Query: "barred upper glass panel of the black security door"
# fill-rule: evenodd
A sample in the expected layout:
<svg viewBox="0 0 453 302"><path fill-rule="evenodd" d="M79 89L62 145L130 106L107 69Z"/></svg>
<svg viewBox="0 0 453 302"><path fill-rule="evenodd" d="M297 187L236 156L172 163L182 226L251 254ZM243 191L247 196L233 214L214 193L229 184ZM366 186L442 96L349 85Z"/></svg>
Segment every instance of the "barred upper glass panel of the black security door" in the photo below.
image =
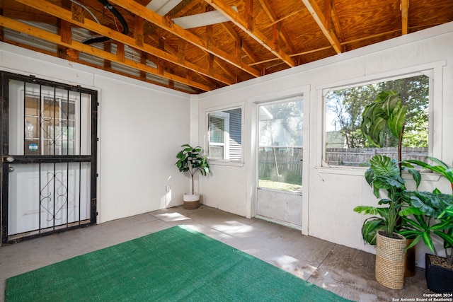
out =
<svg viewBox="0 0 453 302"><path fill-rule="evenodd" d="M91 154L90 110L88 93L10 81L9 153L25 156Z"/></svg>

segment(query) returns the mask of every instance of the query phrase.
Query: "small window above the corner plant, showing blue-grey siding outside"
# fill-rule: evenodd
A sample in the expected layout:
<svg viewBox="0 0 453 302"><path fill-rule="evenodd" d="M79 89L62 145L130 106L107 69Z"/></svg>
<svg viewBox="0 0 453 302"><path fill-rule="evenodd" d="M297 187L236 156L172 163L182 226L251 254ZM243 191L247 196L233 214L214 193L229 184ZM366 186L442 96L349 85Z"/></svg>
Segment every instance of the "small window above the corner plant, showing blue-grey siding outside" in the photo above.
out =
<svg viewBox="0 0 453 302"><path fill-rule="evenodd" d="M208 157L211 160L241 161L242 109L210 112L208 120Z"/></svg>

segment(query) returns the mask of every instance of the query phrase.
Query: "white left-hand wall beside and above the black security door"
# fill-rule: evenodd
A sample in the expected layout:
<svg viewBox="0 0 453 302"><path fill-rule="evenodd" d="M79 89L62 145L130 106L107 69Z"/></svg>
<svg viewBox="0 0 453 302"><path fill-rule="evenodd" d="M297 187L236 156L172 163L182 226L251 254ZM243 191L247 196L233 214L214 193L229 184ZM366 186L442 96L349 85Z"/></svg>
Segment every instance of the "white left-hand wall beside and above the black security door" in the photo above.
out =
<svg viewBox="0 0 453 302"><path fill-rule="evenodd" d="M190 182L174 163L190 137L188 94L6 43L0 69L99 92L99 223L182 204Z"/></svg>

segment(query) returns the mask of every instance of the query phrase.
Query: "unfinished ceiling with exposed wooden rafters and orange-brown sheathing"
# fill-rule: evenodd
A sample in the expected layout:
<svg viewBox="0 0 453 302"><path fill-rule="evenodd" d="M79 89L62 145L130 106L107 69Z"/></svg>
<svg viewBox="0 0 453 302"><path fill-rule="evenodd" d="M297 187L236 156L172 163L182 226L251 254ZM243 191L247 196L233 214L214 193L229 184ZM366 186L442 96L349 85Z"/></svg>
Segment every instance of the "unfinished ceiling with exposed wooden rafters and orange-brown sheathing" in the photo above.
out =
<svg viewBox="0 0 453 302"><path fill-rule="evenodd" d="M0 0L0 40L202 93L453 21L452 0Z"/></svg>

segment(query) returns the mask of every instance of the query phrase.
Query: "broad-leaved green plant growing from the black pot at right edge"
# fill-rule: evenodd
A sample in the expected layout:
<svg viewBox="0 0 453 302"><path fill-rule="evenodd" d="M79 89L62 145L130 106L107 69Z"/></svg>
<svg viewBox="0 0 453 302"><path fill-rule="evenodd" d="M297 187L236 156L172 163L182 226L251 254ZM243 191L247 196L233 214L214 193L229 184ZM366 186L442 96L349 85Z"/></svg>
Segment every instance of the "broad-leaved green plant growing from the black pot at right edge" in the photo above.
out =
<svg viewBox="0 0 453 302"><path fill-rule="evenodd" d="M432 164L415 160L407 160L405 163L420 165L422 168L444 176L452 185L452 194L442 194L437 189L433 192L406 192L408 207L399 213L403 219L403 230L400 233L414 238L409 247L422 239L436 256L439 255L433 239L440 238L443 241L447 262L451 265L453 263L453 167L449 167L437 158L430 157L430 160Z"/></svg>

